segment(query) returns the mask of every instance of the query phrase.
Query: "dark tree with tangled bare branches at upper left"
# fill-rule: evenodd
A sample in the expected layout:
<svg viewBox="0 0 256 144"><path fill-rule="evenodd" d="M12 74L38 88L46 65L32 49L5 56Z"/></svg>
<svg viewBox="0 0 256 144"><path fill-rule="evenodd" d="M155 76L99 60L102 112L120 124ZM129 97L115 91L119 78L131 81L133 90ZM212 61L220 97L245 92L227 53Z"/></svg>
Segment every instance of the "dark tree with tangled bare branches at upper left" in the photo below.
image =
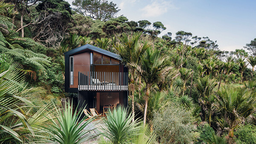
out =
<svg viewBox="0 0 256 144"><path fill-rule="evenodd" d="M70 4L64 0L41 0L36 10L46 17L42 23L33 25L33 39L48 46L59 45L69 28L72 14Z"/></svg>

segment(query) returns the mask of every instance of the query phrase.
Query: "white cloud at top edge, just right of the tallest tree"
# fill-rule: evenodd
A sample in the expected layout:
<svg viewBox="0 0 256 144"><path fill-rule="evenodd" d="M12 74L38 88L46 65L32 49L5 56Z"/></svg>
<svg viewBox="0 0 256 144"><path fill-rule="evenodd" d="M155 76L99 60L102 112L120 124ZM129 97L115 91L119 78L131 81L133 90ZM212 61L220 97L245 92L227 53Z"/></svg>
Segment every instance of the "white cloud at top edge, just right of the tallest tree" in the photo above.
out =
<svg viewBox="0 0 256 144"><path fill-rule="evenodd" d="M168 9L177 9L177 7L175 7L170 1L155 0L141 9L141 11L143 12L143 17L157 17L168 12Z"/></svg>

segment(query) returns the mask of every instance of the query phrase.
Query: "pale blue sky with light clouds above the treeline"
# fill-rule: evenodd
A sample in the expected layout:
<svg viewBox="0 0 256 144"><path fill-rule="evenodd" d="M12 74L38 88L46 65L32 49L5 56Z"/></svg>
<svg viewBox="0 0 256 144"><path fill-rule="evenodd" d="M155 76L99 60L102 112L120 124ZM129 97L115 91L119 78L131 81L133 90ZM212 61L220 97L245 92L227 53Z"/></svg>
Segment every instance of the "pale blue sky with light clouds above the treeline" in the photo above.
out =
<svg viewBox="0 0 256 144"><path fill-rule="evenodd" d="M72 5L73 0L67 0ZM160 21L161 35L182 30L217 40L219 49L243 49L256 38L256 0L108 0L129 21Z"/></svg>

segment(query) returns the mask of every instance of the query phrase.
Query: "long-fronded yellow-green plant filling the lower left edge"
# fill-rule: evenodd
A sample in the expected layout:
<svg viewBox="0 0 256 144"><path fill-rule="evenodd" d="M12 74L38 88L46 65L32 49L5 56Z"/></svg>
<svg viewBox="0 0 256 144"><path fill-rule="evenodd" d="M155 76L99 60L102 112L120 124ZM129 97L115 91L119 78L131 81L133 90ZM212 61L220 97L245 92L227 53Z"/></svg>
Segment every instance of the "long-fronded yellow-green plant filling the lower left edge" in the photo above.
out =
<svg viewBox="0 0 256 144"><path fill-rule="evenodd" d="M24 75L20 72L22 66L13 63L12 59L1 57L0 59L0 143L10 141L23 142L27 133L34 131L29 124L29 114L24 106L32 103L26 98L36 95L41 88L27 88ZM22 135L21 135L22 134Z"/></svg>

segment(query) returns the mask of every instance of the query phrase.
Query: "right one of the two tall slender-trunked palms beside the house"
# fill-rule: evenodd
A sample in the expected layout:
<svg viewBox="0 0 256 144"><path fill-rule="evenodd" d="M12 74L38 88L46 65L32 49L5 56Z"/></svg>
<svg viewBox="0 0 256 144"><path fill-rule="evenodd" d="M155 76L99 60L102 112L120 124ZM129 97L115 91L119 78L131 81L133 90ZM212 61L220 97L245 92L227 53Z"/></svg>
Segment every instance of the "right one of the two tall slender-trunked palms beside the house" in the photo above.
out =
<svg viewBox="0 0 256 144"><path fill-rule="evenodd" d="M170 66L169 58L166 55L160 55L160 51L157 49L153 49L149 47L143 57L141 58L141 62L139 65L133 65L137 67L137 70L146 83L145 87L145 110L144 110L144 124L146 123L147 117L147 107L148 107L148 98L151 95L151 88L153 84L157 83L159 78L162 75L167 74L168 70L171 70L172 67Z"/></svg>

